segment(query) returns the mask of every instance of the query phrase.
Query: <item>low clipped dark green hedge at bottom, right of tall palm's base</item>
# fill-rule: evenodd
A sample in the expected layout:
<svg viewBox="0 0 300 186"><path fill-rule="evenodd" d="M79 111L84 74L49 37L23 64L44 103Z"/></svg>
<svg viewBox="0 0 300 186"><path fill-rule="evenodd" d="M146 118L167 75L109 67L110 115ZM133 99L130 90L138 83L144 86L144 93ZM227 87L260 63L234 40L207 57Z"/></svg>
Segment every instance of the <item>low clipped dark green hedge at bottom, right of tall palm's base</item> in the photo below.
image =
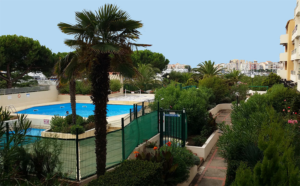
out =
<svg viewBox="0 0 300 186"><path fill-rule="evenodd" d="M161 163L125 160L112 172L88 183L93 185L163 185Z"/></svg>

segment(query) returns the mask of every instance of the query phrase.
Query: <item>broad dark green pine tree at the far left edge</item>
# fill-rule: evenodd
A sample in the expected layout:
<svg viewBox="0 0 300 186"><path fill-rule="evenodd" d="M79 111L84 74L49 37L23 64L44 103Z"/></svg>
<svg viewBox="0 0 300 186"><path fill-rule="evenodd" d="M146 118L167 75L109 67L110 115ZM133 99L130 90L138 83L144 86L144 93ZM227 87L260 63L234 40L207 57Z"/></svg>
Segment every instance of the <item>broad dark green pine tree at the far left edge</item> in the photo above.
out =
<svg viewBox="0 0 300 186"><path fill-rule="evenodd" d="M0 36L0 78L4 79L7 88L13 82L29 72L49 73L56 57L49 48L40 42L17 35ZM12 73L17 73L12 76Z"/></svg>

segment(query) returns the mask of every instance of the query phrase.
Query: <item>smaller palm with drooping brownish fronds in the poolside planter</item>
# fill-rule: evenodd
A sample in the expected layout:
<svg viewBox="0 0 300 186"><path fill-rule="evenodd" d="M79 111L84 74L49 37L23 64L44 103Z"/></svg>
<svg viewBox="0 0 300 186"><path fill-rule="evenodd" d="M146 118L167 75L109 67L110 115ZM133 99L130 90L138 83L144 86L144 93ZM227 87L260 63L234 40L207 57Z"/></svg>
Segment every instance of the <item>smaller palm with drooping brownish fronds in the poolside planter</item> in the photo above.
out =
<svg viewBox="0 0 300 186"><path fill-rule="evenodd" d="M68 64L78 63L78 56L74 52L69 52L64 58L59 58L57 63L53 68L53 75L57 78L56 85L58 88L62 88L69 85L70 91L70 102L72 109L72 122L76 124L76 80L79 79L79 74L81 70L76 65L76 69L72 69L71 73L65 74L65 69Z"/></svg>

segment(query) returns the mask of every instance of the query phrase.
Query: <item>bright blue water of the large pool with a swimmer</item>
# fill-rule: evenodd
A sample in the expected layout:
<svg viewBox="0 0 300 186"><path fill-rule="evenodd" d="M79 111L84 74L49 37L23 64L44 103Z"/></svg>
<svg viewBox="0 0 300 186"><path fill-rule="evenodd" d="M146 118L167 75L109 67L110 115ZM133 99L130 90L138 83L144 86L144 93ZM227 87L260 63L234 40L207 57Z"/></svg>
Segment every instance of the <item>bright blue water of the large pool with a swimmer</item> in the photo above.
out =
<svg viewBox="0 0 300 186"><path fill-rule="evenodd" d="M107 105L107 116L116 116L129 113L131 105ZM95 105L76 103L76 114L82 117L88 117L94 114ZM35 110L35 111L34 111ZM59 115L65 116L66 112L72 113L71 104L47 105L41 107L32 107L30 109L21 110L20 114L39 114L39 115Z"/></svg>

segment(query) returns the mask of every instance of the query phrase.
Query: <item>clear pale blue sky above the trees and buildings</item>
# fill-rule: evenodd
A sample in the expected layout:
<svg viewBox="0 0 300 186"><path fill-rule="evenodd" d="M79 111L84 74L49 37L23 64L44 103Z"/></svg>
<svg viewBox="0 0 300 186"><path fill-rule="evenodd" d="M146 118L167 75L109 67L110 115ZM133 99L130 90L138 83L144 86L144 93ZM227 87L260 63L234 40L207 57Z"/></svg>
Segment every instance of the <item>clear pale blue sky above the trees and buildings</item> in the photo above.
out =
<svg viewBox="0 0 300 186"><path fill-rule="evenodd" d="M59 22L75 23L75 11L117 4L132 19L142 20L138 43L162 53L170 64L231 59L279 61L286 22L293 19L296 0L240 1L15 1L0 0L0 35L34 38L52 52L69 52Z"/></svg>

